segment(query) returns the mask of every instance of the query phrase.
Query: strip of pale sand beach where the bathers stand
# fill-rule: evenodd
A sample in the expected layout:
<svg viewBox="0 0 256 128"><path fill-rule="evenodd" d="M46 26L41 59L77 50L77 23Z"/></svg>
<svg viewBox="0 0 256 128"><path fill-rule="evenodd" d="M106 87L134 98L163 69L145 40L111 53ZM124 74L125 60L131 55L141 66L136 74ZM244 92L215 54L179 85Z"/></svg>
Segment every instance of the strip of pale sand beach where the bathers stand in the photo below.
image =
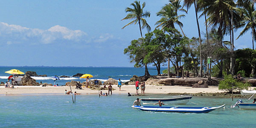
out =
<svg viewBox="0 0 256 128"><path fill-rule="evenodd" d="M102 86L103 87L103 86ZM108 87L108 86L107 86ZM86 94L97 94L98 90L91 90L86 87L83 87L83 90L75 89L75 87L71 87L72 91L76 91L81 95ZM136 94L135 85L123 85L121 87L121 91L117 85L113 85L114 94ZM64 94L65 90L70 90L68 86L61 86L61 87L41 87L41 86L15 86L15 88L5 88L4 86L0 87L0 94L2 95L18 95L18 94ZM108 92L108 90L101 90L103 93ZM145 94L148 93L159 93L159 94L166 94L166 93L221 93L224 92L222 90L218 90L218 86L209 86L208 88L192 88L192 87L182 87L182 86L155 86L155 85L146 85ZM139 90L141 93L141 90Z"/></svg>

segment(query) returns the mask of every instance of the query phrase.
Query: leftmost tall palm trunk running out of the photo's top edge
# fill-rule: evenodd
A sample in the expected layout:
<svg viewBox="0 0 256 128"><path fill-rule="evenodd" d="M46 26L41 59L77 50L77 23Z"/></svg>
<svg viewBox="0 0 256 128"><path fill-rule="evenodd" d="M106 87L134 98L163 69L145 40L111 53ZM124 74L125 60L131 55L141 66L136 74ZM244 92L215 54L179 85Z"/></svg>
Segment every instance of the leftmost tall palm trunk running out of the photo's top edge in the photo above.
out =
<svg viewBox="0 0 256 128"><path fill-rule="evenodd" d="M202 59L202 52L201 52L201 33L200 33L200 27L199 27L199 22L198 22L198 9L197 9L197 0L184 0L183 6L187 7L187 10L191 7L191 5L194 4L195 6L195 17L196 17L196 23L198 26L198 37L199 37L199 51L200 51L200 76L203 77L203 59Z"/></svg>

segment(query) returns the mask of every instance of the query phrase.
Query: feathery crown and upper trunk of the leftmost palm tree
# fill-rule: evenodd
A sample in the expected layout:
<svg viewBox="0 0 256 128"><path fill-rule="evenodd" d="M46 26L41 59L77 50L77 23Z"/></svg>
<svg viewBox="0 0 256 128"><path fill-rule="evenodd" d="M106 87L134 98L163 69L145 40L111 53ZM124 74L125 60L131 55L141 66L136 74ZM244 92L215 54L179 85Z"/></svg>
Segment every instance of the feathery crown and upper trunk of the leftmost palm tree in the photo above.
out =
<svg viewBox="0 0 256 128"><path fill-rule="evenodd" d="M147 21L144 19L144 17L150 17L150 12L144 11L143 9L145 7L146 3L144 2L142 6L140 6L140 1L134 1L134 3L131 3L132 8L127 7L125 9L125 12L130 12L128 15L126 15L125 18L122 20L132 20L130 23L126 24L122 29L124 29L126 26L131 25L131 24L139 24L140 26L140 35L142 36L141 29L146 28L148 31L151 30L151 27L148 25ZM142 26L141 26L142 24Z"/></svg>

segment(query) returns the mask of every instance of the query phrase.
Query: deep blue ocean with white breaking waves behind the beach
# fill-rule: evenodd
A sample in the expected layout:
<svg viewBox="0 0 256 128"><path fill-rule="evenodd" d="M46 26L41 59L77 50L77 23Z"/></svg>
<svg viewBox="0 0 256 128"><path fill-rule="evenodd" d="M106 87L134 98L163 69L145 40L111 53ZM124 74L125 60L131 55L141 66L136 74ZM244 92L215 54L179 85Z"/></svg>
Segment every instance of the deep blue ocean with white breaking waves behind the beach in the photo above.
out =
<svg viewBox="0 0 256 128"><path fill-rule="evenodd" d="M113 79L121 79L122 82L129 81L133 75L143 76L145 68L135 67L0 67L0 82L6 82L10 74L5 73L8 70L17 69L25 73L26 71L35 71L38 75L47 75L48 77L32 77L38 83L52 83L54 84L54 78L52 76L70 76L70 78L60 78L55 84L65 85L66 82L85 81L85 79L79 79L79 77L72 77L76 73L91 74L93 78L101 81L106 81L109 77ZM149 67L149 73L151 75L157 75L155 67ZM162 71L166 68L162 68Z"/></svg>

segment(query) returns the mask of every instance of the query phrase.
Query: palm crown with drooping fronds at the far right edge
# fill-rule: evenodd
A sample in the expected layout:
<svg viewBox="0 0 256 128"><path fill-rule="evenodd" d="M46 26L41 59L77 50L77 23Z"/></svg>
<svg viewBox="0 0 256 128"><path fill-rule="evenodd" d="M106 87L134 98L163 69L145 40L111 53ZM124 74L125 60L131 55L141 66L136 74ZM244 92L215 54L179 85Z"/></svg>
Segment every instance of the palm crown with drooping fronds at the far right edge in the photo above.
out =
<svg viewBox="0 0 256 128"><path fill-rule="evenodd" d="M244 6L243 11L243 20L244 23L241 24L241 26L245 26L244 29L240 32L239 36L236 38L238 39L241 35L244 35L245 32L247 32L249 29L252 31L252 42L256 40L256 10L254 8L254 4L251 2L247 3L247 6ZM254 42L253 42L253 49L254 49Z"/></svg>

